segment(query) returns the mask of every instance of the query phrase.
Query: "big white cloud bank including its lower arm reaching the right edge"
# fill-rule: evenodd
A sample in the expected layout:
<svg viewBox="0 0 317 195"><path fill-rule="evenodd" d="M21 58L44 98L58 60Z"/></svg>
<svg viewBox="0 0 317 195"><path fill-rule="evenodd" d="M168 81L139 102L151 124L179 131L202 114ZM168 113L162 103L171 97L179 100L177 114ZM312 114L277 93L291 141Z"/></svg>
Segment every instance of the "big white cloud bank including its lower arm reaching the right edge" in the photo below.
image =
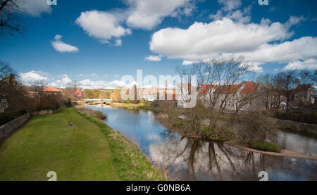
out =
<svg viewBox="0 0 317 195"><path fill-rule="evenodd" d="M196 22L187 29L168 27L154 32L150 49L168 58L180 58L183 65L211 57L242 55L255 64L254 71L261 72L259 65L263 63L317 58L316 37L285 42L294 34L290 27L303 20L302 16L291 16L282 24L262 18L261 23L256 24L224 17L211 23Z"/></svg>

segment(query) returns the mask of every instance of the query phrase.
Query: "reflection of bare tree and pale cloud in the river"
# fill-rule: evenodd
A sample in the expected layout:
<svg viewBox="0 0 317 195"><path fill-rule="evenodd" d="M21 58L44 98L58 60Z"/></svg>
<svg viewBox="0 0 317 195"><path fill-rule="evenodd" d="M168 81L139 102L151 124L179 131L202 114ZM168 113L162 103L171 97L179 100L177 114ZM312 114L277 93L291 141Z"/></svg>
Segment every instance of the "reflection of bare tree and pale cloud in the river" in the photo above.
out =
<svg viewBox="0 0 317 195"><path fill-rule="evenodd" d="M161 136L166 139L151 144L149 156L171 175L179 175L178 180L259 180L260 171L270 172L276 165L287 170L285 161L292 159L244 151L223 142L190 140L168 131ZM289 172L279 174L287 178Z"/></svg>

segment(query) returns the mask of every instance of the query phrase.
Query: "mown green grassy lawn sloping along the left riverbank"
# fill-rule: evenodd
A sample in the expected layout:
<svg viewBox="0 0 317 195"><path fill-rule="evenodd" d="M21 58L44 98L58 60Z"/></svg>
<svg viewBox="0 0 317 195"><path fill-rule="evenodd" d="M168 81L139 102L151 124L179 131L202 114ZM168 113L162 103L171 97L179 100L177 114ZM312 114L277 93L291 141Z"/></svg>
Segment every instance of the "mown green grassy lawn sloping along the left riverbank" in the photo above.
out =
<svg viewBox="0 0 317 195"><path fill-rule="evenodd" d="M76 126L68 127L68 121ZM0 146L0 180L45 181L49 171L57 173L57 180L163 180L136 146L123 137L114 140L116 132L102 125L73 107L35 116ZM118 139L125 144L119 146ZM131 156L123 153L128 146ZM127 159L128 165L122 161Z"/></svg>

